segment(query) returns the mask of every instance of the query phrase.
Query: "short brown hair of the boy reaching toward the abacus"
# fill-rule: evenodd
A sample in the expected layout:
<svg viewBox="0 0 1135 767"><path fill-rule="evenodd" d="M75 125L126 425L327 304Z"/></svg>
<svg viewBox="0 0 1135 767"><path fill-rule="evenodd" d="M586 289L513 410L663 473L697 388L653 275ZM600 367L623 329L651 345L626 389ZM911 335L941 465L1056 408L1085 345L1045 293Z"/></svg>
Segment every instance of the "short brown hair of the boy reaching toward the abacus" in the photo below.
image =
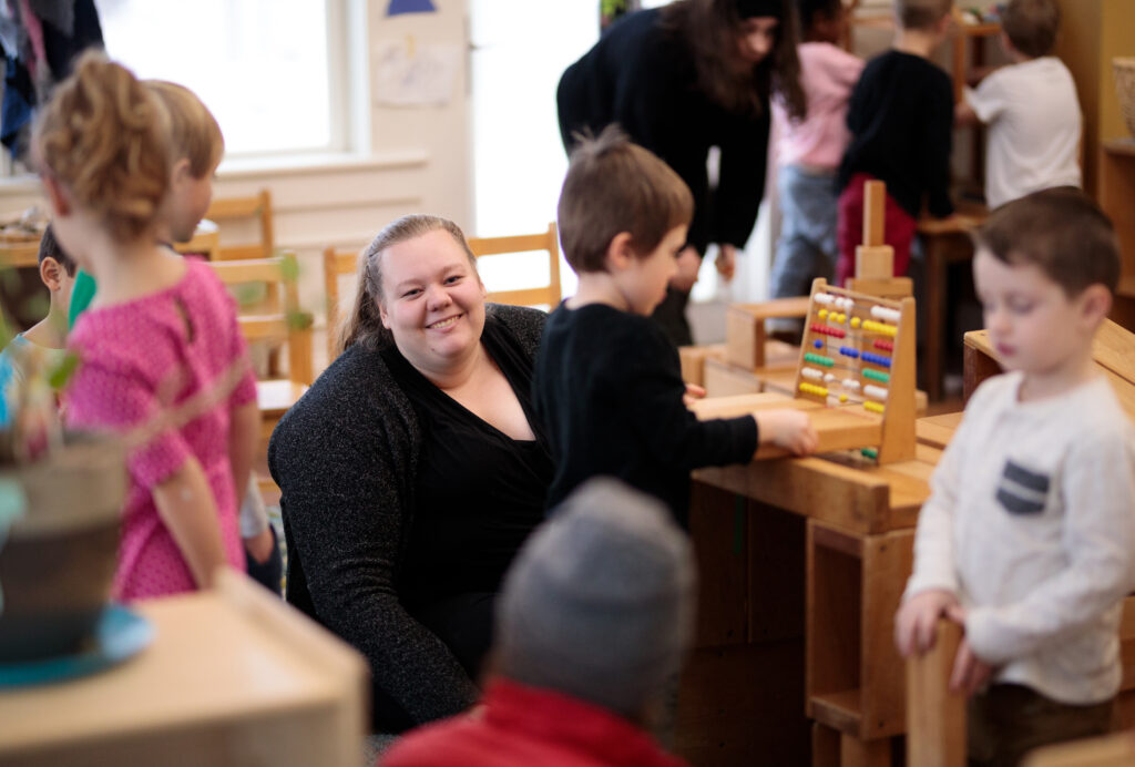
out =
<svg viewBox="0 0 1135 767"><path fill-rule="evenodd" d="M603 271L615 235L629 231L646 258L666 233L689 226L693 195L670 166L612 125L572 151L556 218L571 268Z"/></svg>

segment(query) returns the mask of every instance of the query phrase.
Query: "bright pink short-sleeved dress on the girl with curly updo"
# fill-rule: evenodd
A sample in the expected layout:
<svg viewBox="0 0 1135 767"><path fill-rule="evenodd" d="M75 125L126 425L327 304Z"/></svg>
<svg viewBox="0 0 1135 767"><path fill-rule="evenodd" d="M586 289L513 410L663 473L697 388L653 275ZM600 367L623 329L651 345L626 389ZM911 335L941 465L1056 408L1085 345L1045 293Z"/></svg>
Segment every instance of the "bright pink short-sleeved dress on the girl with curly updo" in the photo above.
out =
<svg viewBox="0 0 1135 767"><path fill-rule="evenodd" d="M67 390L69 428L129 431L190 397L215 393L233 365L245 364L233 298L208 264L186 259L186 266L185 276L170 288L79 317L68 338L81 361ZM232 408L255 397L255 380L245 370L236 387L201 415L167 428L127 456L116 599L196 589L152 494L190 457L200 462L212 489L226 557L244 570L228 438Z"/></svg>

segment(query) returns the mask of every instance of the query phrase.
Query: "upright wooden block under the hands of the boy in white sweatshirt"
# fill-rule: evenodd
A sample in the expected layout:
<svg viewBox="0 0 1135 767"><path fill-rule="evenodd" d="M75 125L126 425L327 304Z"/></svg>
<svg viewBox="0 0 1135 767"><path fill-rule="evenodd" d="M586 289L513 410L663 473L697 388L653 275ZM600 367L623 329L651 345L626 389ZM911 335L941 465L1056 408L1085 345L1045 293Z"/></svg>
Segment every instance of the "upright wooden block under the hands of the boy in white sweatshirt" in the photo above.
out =
<svg viewBox="0 0 1135 767"><path fill-rule="evenodd" d="M907 764L965 767L966 697L949 690L961 626L939 621L934 647L907 659Z"/></svg>

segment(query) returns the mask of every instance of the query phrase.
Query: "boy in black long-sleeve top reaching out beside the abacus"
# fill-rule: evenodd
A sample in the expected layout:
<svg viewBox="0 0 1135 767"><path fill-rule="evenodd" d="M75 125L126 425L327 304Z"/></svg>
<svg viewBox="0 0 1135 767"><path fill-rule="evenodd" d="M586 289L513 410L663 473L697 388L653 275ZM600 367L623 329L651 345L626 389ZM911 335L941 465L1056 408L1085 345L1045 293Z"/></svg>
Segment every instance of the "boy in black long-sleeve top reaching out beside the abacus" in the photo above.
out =
<svg viewBox="0 0 1135 767"><path fill-rule="evenodd" d="M684 524L690 470L747 462L759 441L815 449L799 411L698 421L687 408L678 349L649 315L692 213L686 183L617 128L572 152L558 221L579 290L548 319L532 381L556 463L548 508L606 474L661 498Z"/></svg>

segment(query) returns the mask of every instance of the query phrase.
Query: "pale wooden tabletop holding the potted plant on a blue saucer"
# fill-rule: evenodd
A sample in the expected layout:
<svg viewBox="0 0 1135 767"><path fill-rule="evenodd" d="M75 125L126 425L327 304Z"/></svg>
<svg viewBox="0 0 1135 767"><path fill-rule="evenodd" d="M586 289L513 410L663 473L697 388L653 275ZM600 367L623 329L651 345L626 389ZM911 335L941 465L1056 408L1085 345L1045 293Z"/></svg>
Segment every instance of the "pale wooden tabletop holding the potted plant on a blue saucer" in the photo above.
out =
<svg viewBox="0 0 1135 767"><path fill-rule="evenodd" d="M340 640L235 573L136 609L136 657L0 691L0 765L361 764L368 672Z"/></svg>

